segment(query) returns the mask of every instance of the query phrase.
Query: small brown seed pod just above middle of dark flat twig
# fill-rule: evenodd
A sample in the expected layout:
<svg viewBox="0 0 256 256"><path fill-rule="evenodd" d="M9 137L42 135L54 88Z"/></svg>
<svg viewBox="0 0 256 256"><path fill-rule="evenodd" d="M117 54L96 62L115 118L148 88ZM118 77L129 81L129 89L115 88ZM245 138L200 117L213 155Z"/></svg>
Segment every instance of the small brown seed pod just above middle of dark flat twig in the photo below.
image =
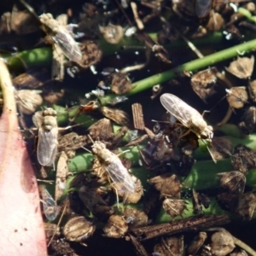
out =
<svg viewBox="0 0 256 256"><path fill-rule="evenodd" d="M165 209L166 213L171 216L171 218L182 216L183 211L187 210L186 201L171 198L166 198L163 201L163 208Z"/></svg>

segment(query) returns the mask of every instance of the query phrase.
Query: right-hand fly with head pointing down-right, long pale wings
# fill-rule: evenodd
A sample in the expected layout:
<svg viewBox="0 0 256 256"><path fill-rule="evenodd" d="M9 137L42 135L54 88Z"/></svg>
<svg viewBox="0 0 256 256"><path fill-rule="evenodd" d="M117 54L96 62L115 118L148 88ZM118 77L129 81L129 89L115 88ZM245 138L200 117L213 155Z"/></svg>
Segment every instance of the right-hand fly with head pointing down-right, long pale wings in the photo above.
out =
<svg viewBox="0 0 256 256"><path fill-rule="evenodd" d="M189 128L189 131L193 131L199 138L207 139L209 142L212 141L212 126L207 125L207 122L195 108L190 107L180 98L170 93L161 95L160 102L178 121Z"/></svg>

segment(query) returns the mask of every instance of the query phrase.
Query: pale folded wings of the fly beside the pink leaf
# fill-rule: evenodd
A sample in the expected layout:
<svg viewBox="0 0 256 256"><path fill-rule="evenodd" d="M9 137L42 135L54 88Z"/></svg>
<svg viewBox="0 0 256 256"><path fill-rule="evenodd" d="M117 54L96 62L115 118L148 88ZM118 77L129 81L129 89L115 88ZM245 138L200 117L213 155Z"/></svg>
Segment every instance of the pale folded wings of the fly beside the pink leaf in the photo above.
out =
<svg viewBox="0 0 256 256"><path fill-rule="evenodd" d="M38 129L38 162L41 166L52 166L57 153L58 128L44 131L42 127Z"/></svg>

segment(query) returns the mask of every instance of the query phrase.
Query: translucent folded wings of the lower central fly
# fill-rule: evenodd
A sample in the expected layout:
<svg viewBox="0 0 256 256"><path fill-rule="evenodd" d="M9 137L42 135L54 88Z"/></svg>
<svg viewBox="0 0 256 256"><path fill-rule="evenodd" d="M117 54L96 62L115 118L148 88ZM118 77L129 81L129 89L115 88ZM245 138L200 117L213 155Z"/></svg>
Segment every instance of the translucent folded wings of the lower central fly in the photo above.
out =
<svg viewBox="0 0 256 256"><path fill-rule="evenodd" d="M119 159L106 166L106 171L108 172L113 183L115 183L119 189L127 190L124 192L134 192L135 183L133 182L130 173Z"/></svg>

